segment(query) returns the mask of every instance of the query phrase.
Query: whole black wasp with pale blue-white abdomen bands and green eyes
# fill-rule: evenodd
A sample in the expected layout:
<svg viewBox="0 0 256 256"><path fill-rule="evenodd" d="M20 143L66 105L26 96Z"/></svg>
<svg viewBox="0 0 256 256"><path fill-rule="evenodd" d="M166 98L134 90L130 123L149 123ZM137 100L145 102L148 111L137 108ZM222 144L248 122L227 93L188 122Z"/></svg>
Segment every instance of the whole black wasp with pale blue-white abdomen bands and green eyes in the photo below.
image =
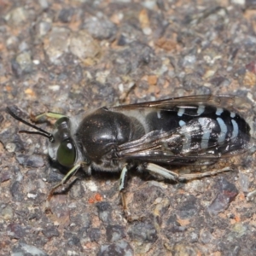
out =
<svg viewBox="0 0 256 256"><path fill-rule="evenodd" d="M7 112L38 130L23 132L48 137L49 157L70 169L50 195L80 167L88 174L92 169L120 172L119 191L126 209L125 177L133 167L177 182L230 170L178 175L166 166L212 165L252 148L251 128L239 111L245 104L236 96L184 96L99 108L71 118L39 115L37 119L57 119L53 133L20 119L14 108Z"/></svg>

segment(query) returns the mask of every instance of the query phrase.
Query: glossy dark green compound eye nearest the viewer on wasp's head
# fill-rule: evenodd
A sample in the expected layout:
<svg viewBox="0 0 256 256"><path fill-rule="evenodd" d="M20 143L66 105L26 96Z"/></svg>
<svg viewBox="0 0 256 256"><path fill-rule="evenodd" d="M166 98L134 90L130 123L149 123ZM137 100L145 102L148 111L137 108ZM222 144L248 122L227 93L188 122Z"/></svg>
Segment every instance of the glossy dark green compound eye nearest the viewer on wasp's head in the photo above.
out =
<svg viewBox="0 0 256 256"><path fill-rule="evenodd" d="M66 139L60 143L57 150L57 160L61 166L73 166L77 156L77 150L74 146L73 140Z"/></svg>

